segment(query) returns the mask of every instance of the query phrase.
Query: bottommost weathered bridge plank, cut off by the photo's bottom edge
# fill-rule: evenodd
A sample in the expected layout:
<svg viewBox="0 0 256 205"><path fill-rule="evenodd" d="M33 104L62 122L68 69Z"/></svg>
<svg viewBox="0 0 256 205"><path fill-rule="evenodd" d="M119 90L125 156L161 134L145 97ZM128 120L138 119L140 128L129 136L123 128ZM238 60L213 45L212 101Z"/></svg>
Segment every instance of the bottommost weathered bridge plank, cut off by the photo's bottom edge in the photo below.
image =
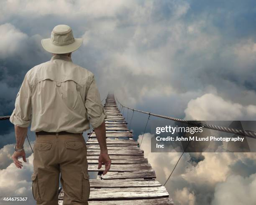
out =
<svg viewBox="0 0 256 205"><path fill-rule="evenodd" d="M107 200L107 201L88 201L89 205L174 205L169 197L139 200ZM63 205L63 200L59 200L59 205Z"/></svg>

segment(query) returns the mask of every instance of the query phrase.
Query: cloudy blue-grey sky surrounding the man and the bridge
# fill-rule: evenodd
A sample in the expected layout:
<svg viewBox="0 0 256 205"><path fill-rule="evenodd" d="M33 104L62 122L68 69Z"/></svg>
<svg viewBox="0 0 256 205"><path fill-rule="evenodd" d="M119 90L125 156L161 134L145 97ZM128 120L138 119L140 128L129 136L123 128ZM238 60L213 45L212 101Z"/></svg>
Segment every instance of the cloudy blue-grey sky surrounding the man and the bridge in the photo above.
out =
<svg viewBox="0 0 256 205"><path fill-rule="evenodd" d="M13 111L26 72L51 58L41 39L58 24L83 38L72 60L95 74L102 99L110 91L125 106L187 120L256 119L253 0L2 0L0 116ZM147 117L134 114L136 139ZM15 170L13 125L0 129L0 192L30 195L33 156L28 149ZM179 153L152 154L148 143L141 148L164 183ZM175 205L251 205L255 185L255 154L190 153L166 188Z"/></svg>

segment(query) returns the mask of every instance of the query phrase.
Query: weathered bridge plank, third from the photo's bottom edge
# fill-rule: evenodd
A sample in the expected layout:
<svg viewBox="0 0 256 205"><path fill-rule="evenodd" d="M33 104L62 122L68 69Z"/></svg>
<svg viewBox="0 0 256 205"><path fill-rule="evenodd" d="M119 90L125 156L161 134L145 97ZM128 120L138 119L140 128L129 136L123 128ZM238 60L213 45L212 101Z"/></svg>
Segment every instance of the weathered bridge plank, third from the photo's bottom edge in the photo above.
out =
<svg viewBox="0 0 256 205"><path fill-rule="evenodd" d="M91 188L110 187L158 187L160 182L156 180L90 180Z"/></svg>

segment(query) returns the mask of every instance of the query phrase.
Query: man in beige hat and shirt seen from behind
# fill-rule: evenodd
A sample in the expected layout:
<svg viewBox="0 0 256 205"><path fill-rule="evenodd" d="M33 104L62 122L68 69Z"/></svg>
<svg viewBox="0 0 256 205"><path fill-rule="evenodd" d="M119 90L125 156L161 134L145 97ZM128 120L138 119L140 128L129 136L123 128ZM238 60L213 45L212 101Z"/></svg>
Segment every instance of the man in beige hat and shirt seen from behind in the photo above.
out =
<svg viewBox="0 0 256 205"><path fill-rule="evenodd" d="M94 127L100 144L98 169L111 160L106 146L105 111L92 72L75 65L71 53L82 44L68 25L57 25L43 48L54 53L50 61L26 73L10 121L15 125L17 144L13 161L22 168L27 127L36 132L33 159L33 196L38 205L57 205L59 175L64 205L85 205L90 195L87 148L82 132Z"/></svg>

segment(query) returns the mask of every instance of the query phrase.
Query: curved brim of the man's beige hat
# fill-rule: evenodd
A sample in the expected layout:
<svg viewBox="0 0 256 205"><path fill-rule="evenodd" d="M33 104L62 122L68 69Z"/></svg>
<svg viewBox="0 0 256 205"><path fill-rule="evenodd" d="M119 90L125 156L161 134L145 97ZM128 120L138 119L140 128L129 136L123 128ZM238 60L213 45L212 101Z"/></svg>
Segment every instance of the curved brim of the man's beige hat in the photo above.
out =
<svg viewBox="0 0 256 205"><path fill-rule="evenodd" d="M50 53L56 53L56 54L71 53L73 51L76 51L82 45L82 42L83 42L82 38L75 38L74 43L71 43L66 46L56 46L51 43L50 38L41 40L44 50Z"/></svg>

